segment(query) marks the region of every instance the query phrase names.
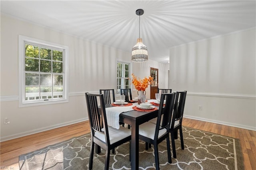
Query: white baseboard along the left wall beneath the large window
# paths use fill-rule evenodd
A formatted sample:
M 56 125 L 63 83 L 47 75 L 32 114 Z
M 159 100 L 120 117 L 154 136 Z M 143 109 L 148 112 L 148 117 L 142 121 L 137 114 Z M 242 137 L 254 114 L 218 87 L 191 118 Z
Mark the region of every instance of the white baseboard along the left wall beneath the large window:
M 68 121 L 68 122 L 60 123 L 60 124 L 53 125 L 53 126 L 48 126 L 48 127 L 43 127 L 43 128 L 40 128 L 40 129 L 35 129 L 33 131 L 26 131 L 26 132 L 23 132 L 23 133 L 17 133 L 17 134 L 14 134 L 14 135 L 2 137 L 0 139 L 0 142 L 9 141 L 11 139 L 16 139 L 16 138 L 19 138 L 19 137 L 24 137 L 24 136 L 32 135 L 32 134 L 43 132 L 43 131 L 48 131 L 48 130 L 55 129 L 55 128 L 58 128 L 58 127 L 72 125 L 74 123 L 79 123 L 79 122 L 86 121 L 86 120 L 88 120 L 88 118 L 87 119 L 86 118 L 84 118 L 84 119 L 77 119 L 77 120 L 74 120 L 74 121 Z

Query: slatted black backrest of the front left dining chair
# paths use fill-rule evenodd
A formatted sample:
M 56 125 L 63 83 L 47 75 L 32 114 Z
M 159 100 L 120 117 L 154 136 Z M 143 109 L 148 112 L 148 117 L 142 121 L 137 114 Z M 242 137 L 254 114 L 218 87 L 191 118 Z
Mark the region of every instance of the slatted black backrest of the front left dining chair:
M 105 103 L 104 103 L 104 95 L 103 94 L 89 94 L 85 93 L 86 96 L 86 103 L 87 103 L 87 110 L 88 110 L 88 117 L 90 121 L 91 127 L 91 134 L 94 137 L 95 132 L 105 134 L 106 143 L 110 143 L 109 141 L 109 134 L 108 134 L 108 123 L 106 119 L 106 110 L 105 110 Z M 99 109 L 97 99 L 100 99 L 100 107 Z M 104 127 L 104 131 L 102 131 L 100 115 L 102 117 L 102 123 Z

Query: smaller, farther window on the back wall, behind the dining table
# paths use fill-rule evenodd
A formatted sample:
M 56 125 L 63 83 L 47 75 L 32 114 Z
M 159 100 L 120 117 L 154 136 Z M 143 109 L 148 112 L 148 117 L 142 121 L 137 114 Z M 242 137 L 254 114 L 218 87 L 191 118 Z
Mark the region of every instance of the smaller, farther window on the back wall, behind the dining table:
M 116 64 L 116 92 L 120 94 L 121 88 L 130 88 L 130 63 L 118 61 Z

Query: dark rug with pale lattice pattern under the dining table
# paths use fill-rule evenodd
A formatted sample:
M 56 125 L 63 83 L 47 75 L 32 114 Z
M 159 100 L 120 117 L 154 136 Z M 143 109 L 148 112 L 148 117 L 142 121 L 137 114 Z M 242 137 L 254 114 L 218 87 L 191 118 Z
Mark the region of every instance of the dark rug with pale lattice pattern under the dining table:
M 168 163 L 166 141 L 158 145 L 161 170 L 243 170 L 243 155 L 238 139 L 183 127 L 184 147 L 180 147 L 180 137 L 175 140 L 177 158 Z M 74 137 L 19 156 L 20 170 L 87 170 L 89 165 L 91 135 Z M 171 147 L 172 148 L 172 147 Z M 139 169 L 155 169 L 154 147 L 145 150 L 140 141 Z M 104 169 L 105 150 L 95 154 L 93 169 Z M 129 143 L 117 147 L 110 154 L 110 169 L 131 169 Z

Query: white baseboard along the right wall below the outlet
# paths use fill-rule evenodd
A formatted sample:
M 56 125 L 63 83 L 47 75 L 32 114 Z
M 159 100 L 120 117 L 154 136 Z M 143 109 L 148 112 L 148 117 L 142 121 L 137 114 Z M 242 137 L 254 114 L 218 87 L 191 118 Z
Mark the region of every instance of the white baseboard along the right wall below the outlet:
M 242 128 L 242 129 L 256 131 L 256 127 L 252 127 L 252 126 L 245 126 L 245 125 L 240 125 L 240 124 L 235 124 L 235 123 L 230 123 L 230 122 L 225 122 L 225 121 L 212 120 L 212 119 L 205 119 L 202 117 L 195 117 L 195 116 L 190 116 L 190 115 L 183 115 L 183 117 L 188 118 L 188 119 L 195 119 L 195 120 L 199 120 L 199 121 L 206 121 L 206 122 L 210 122 L 210 123 L 216 123 L 216 124 L 220 124 L 220 125 L 227 125 L 227 126 L 238 127 L 238 128 Z

